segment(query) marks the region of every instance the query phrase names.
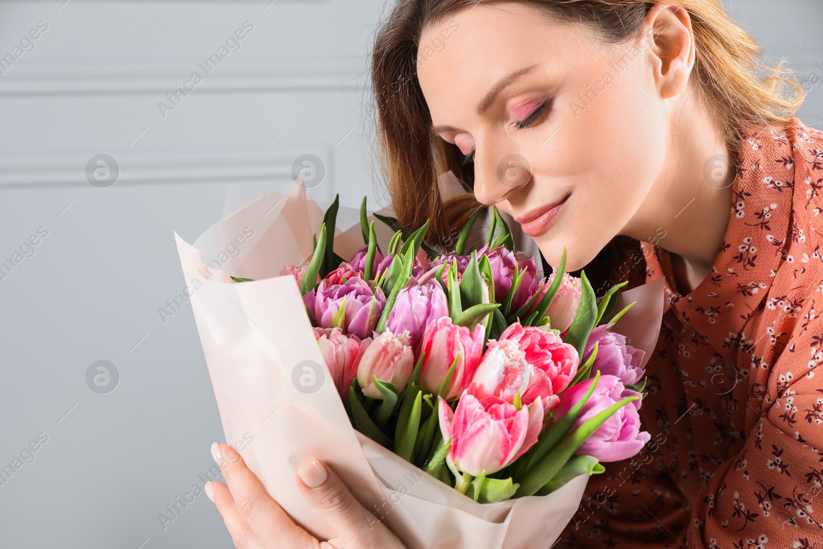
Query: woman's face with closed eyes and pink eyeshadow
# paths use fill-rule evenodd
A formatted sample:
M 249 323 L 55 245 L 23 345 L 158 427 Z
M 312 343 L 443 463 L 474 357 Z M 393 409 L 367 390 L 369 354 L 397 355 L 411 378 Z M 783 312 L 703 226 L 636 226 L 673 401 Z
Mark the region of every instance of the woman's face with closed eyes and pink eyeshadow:
M 651 44 L 604 44 L 518 2 L 478 5 L 421 35 L 435 135 L 473 155 L 477 200 L 514 216 L 552 265 L 564 244 L 574 271 L 645 228 L 637 214 L 671 131 Z

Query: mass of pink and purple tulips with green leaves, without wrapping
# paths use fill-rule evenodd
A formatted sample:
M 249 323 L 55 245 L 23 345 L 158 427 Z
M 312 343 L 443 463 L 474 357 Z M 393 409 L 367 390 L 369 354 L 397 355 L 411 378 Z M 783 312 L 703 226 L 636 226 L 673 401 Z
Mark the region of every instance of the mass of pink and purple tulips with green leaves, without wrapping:
M 585 273 L 564 272 L 565 250 L 538 279 L 495 207 L 485 246 L 465 249 L 478 211 L 445 254 L 425 246 L 428 221 L 408 233 L 378 216 L 398 229 L 384 255 L 364 199 L 365 244 L 342 261 L 327 230 L 338 198 L 314 253 L 281 274 L 357 430 L 481 503 L 548 494 L 649 441 L 644 351 L 610 331 L 632 306 L 609 319 L 625 282 L 597 301 Z

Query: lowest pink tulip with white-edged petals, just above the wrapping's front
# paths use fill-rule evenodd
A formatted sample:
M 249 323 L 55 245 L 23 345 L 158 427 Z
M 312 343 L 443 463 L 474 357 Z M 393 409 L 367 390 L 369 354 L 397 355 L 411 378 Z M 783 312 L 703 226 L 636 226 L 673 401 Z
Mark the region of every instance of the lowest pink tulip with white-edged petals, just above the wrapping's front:
M 491 475 L 514 462 L 537 442 L 543 426 L 543 404 L 538 397 L 529 407 L 517 409 L 502 398 L 477 398 L 471 384 L 457 409 L 439 401 L 440 430 L 451 440 L 449 468 L 477 477 Z

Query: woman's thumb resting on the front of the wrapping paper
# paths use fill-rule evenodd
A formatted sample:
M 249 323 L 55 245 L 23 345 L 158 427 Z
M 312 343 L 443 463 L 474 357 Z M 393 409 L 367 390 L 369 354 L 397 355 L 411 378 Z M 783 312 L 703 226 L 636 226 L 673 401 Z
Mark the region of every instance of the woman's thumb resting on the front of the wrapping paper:
M 360 505 L 331 468 L 317 458 L 306 459 L 297 469 L 297 486 L 344 544 L 355 540 L 353 547 L 378 547 L 371 542 L 383 535 L 383 524 Z

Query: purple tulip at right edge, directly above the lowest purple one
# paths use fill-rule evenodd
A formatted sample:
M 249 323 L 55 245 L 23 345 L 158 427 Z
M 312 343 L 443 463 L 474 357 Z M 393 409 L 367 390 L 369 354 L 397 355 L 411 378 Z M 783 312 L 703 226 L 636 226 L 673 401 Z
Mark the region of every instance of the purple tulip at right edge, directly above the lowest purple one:
M 639 382 L 646 370 L 640 368 L 645 351 L 625 344 L 625 337 L 619 333 L 608 332 L 612 324 L 602 324 L 592 330 L 584 349 L 585 364 L 592 356 L 594 344 L 597 343 L 597 356 L 592 363 L 592 375 L 599 371 L 601 375 L 615 375 L 624 385 Z

